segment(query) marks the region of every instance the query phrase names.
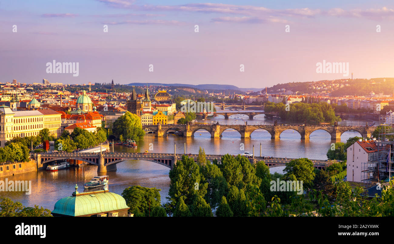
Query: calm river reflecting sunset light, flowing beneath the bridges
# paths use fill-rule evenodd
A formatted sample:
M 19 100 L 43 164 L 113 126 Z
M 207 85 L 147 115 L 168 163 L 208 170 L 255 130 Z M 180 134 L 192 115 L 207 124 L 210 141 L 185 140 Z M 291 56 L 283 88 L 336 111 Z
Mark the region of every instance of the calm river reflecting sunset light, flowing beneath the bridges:
M 243 119 L 240 119 L 242 117 Z M 247 115 L 232 115 L 229 119 L 223 116 L 207 119 L 201 122 L 220 124 L 244 124 L 248 125 L 273 124 L 273 119 L 265 119 L 264 115 L 256 115 L 253 120 L 249 120 Z M 365 125 L 366 120 L 354 119 L 344 120 L 339 125 Z M 282 123 L 280 120 L 278 123 Z M 207 154 L 226 154 L 236 155 L 244 151 L 252 151 L 255 145 L 255 155 L 260 155 L 260 143 L 262 156 L 326 159 L 326 153 L 329 149 L 331 136 L 324 130 L 316 130 L 310 134 L 309 140 L 302 140 L 298 132 L 285 130 L 281 134 L 280 140 L 271 140 L 271 135 L 265 130 L 255 130 L 249 139 L 241 139 L 240 134 L 235 130 L 226 130 L 221 138 L 210 138 L 207 131 L 195 132 L 194 138 L 183 138 L 180 136 L 168 135 L 163 138 L 156 138 L 153 134 L 146 134 L 144 140 L 138 142 L 138 149 L 115 145 L 117 152 L 143 152 L 153 146 L 156 153 L 173 153 L 174 143 L 177 145 L 177 153 L 183 153 L 184 142 L 186 141 L 186 153 L 198 153 L 199 147 L 202 147 Z M 341 142 L 346 142 L 350 137 L 360 136 L 358 132 L 344 132 L 341 136 Z M 150 145 L 150 143 L 152 143 Z M 244 149 L 240 150 L 240 144 L 244 144 Z M 161 189 L 161 201 L 165 203 L 168 196 L 170 179 L 168 177 L 169 168 L 153 162 L 141 160 L 128 160 L 117 164 L 117 171 L 108 171 L 109 190 L 121 194 L 129 186 L 141 185 L 145 187 L 156 187 Z M 78 191 L 83 191 L 84 181 L 89 181 L 97 175 L 97 166 L 85 165 L 80 168 L 68 168 L 57 172 L 35 171 L 14 176 L 2 177 L 0 180 L 14 181 L 31 181 L 32 192 L 26 195 L 25 192 L 1 192 L 1 196 L 9 197 L 13 201 L 19 201 L 24 206 L 34 207 L 39 205 L 44 208 L 53 210 L 56 201 L 62 197 L 71 196 L 74 192 L 75 184 L 78 184 Z

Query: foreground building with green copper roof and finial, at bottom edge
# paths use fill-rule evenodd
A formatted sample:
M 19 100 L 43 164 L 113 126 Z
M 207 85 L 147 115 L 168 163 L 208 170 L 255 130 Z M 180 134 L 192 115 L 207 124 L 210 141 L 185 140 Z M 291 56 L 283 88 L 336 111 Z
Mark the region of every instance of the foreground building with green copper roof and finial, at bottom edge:
M 75 192 L 55 203 L 51 214 L 55 217 L 127 217 L 126 200 L 119 194 L 108 190 Z

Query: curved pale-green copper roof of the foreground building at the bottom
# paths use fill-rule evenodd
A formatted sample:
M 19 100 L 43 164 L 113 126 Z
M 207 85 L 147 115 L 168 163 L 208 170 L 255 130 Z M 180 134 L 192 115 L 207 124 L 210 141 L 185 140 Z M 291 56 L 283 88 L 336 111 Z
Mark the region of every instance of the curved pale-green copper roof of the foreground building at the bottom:
M 93 215 L 101 212 L 111 212 L 128 209 L 125 199 L 113 192 L 103 192 L 64 197 L 55 203 L 54 214 L 68 216 Z

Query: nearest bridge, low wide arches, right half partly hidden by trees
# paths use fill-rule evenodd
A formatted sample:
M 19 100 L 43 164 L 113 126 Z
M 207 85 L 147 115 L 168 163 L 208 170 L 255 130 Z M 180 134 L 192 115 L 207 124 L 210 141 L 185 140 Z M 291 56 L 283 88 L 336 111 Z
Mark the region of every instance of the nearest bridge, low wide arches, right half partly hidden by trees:
M 98 166 L 97 172 L 106 172 L 116 170 L 116 164 L 126 160 L 150 161 L 172 169 L 177 164 L 177 160 L 182 158 L 182 155 L 184 154 L 175 153 L 174 145 L 174 153 L 41 153 L 35 154 L 34 158 L 38 167 L 43 167 L 45 166 L 44 164 L 49 164 L 50 162 L 54 162 L 56 160 L 74 159 Z M 198 154 L 189 155 L 189 157 L 193 158 L 194 161 L 197 161 L 198 156 Z M 211 162 L 212 160 L 216 159 L 218 162 L 220 162 L 221 156 L 222 155 L 206 155 L 206 159 L 210 160 Z M 250 158 L 251 163 L 255 164 L 258 161 L 264 161 L 270 168 L 285 166 L 286 163 L 290 162 L 290 160 L 292 160 L 292 158 Z M 312 162 L 314 167 L 318 169 L 323 169 L 328 166 L 328 163 L 325 160 L 312 160 Z

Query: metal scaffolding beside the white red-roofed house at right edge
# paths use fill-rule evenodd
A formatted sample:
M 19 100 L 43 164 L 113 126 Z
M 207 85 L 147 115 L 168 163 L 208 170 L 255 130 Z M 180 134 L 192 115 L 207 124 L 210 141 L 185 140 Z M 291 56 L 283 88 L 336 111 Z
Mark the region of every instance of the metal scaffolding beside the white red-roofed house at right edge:
M 368 154 L 368 162 L 361 164 L 361 182 L 364 187 L 370 187 L 376 182 L 385 182 L 393 176 L 394 168 L 394 129 L 391 120 L 386 121 L 386 116 L 379 118 L 380 127 L 376 138 L 377 151 Z M 391 165 L 390 165 L 391 164 Z

